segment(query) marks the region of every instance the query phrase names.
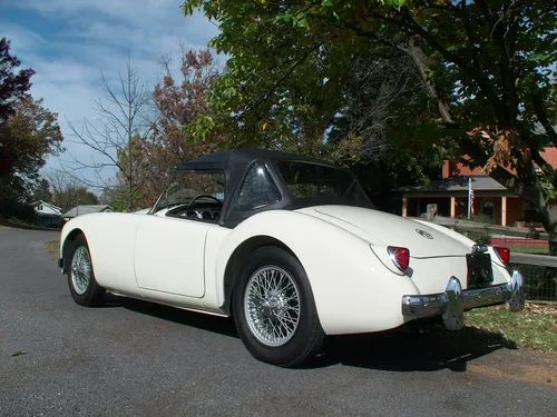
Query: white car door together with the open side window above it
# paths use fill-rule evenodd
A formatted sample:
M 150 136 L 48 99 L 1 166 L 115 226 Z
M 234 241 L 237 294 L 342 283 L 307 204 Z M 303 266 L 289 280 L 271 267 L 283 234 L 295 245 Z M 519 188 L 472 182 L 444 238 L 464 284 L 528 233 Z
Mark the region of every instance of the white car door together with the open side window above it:
M 205 241 L 219 228 L 222 171 L 179 172 L 145 215 L 135 242 L 135 274 L 141 289 L 187 297 L 205 295 Z

